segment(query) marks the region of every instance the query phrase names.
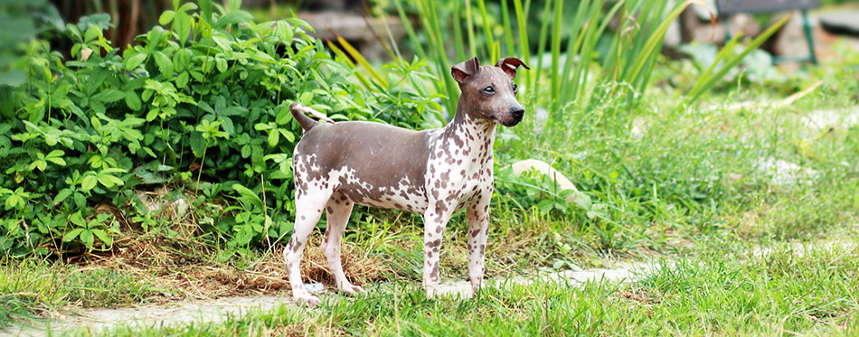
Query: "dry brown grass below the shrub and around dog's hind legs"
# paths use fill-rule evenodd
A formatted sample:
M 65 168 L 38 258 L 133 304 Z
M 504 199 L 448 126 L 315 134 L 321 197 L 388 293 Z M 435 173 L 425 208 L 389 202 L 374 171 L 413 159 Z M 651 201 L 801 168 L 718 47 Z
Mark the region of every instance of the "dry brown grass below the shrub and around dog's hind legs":
M 319 249 L 321 235 L 310 239 L 302 259 L 305 282 L 334 286 L 325 257 Z M 205 299 L 231 295 L 266 295 L 290 289 L 281 248 L 261 253 L 246 268 L 216 261 L 215 248 L 183 239 L 136 236 L 121 239 L 104 255 L 72 258 L 82 267 L 122 269 L 153 285 L 159 295 L 148 301 L 163 303 L 182 299 Z M 241 257 L 234 257 L 241 258 Z M 381 259 L 354 244 L 344 242 L 341 252 L 346 276 L 355 284 L 382 281 L 386 267 Z

